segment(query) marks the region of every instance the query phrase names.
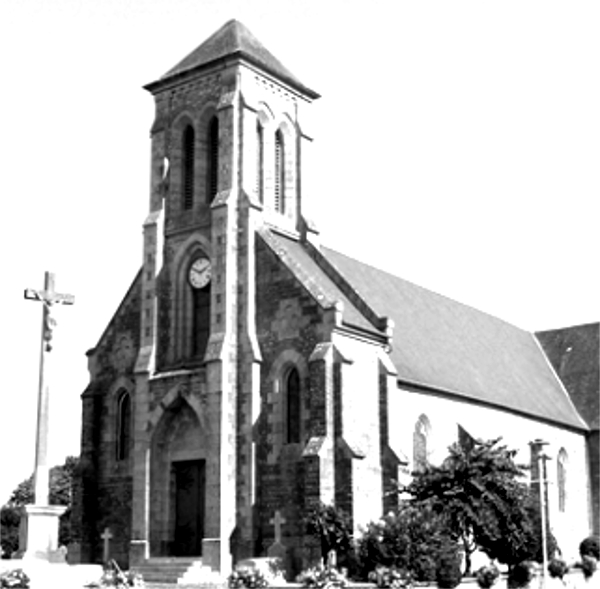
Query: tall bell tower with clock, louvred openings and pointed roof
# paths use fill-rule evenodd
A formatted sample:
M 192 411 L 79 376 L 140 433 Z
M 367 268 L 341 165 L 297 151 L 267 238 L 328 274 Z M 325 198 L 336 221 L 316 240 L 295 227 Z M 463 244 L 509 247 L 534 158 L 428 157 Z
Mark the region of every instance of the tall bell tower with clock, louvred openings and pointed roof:
M 252 556 L 255 540 L 252 429 L 261 362 L 255 234 L 261 226 L 301 230 L 301 153 L 308 137 L 299 117 L 318 94 L 235 20 L 145 88 L 156 110 L 136 431 L 148 429 L 157 381 L 169 375 L 195 383 L 190 394 L 201 399 L 206 427 L 202 560 L 224 574 L 230 543 L 237 557 Z M 140 436 L 138 464 L 148 464 L 149 448 Z M 137 560 L 149 555 L 150 475 L 143 468 L 134 477 L 132 557 L 143 542 L 146 552 Z

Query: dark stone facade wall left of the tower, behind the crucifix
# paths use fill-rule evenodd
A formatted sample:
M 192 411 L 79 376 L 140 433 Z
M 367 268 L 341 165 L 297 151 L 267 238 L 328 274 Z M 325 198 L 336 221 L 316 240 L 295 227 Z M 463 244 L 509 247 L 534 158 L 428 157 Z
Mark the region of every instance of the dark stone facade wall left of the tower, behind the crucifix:
M 127 566 L 131 521 L 131 448 L 118 460 L 118 400 L 127 392 L 135 411 L 133 364 L 139 350 L 139 276 L 98 345 L 88 352 L 90 384 L 83 392 L 81 457 L 73 499 L 73 540 L 81 561 L 102 561 L 100 535 L 111 530 L 111 557 Z M 131 438 L 130 438 L 131 442 Z

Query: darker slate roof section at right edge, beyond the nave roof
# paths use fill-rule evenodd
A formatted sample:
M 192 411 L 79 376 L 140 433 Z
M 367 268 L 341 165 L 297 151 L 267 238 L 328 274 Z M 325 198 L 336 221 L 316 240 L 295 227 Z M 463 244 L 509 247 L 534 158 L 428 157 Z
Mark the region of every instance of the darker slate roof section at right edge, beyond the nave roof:
M 536 333 L 579 414 L 600 429 L 600 323 Z

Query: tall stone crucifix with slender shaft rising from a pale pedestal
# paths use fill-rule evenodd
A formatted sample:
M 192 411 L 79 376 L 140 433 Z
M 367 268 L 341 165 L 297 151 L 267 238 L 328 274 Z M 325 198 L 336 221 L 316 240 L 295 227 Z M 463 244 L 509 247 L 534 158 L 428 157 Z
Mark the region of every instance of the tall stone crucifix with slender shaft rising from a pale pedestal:
M 37 430 L 35 442 L 34 503 L 48 505 L 50 492 L 50 474 L 47 462 L 48 450 L 48 386 L 46 383 L 45 367 L 47 356 L 52 350 L 52 335 L 56 321 L 51 315 L 52 305 L 72 305 L 75 297 L 59 294 L 54 291 L 54 274 L 44 275 L 44 290 L 25 290 L 25 298 L 43 303 L 42 315 L 42 348 L 40 351 L 40 377 L 38 391 Z

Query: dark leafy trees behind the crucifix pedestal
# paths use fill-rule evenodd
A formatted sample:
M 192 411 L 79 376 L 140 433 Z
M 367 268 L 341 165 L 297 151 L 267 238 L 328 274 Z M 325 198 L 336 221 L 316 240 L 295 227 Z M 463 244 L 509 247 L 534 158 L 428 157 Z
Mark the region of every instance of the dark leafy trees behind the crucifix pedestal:
M 67 510 L 60 518 L 58 541 L 68 544 L 70 533 L 71 494 L 73 475 L 79 464 L 79 458 L 68 456 L 65 463 L 50 469 L 50 503 L 52 505 L 66 505 Z M 21 521 L 21 507 L 33 503 L 34 489 L 33 476 L 25 479 L 12 492 L 8 502 L 0 511 L 1 546 L 5 556 L 10 556 L 19 548 L 19 525 Z

